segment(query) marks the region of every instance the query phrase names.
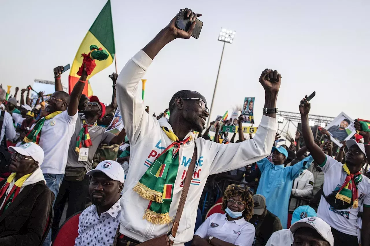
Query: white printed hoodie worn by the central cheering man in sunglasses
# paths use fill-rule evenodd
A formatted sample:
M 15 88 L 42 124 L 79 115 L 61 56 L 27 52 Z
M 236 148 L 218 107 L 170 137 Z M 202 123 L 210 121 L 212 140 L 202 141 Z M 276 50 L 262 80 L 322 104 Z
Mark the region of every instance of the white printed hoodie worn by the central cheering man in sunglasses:
M 142 219 L 149 201 L 132 190 L 148 169 L 148 164 L 172 143 L 161 129 L 161 126 L 165 126 L 172 130 L 168 120 L 166 118 L 157 120 L 149 116 L 138 94 L 139 89 L 141 92 L 140 79 L 145 75 L 151 62 L 152 59 L 140 50 L 127 62 L 116 83 L 118 107 L 131 146 L 130 166 L 120 202 L 122 207 L 120 233 L 140 242 L 168 233 L 172 227 L 172 224 L 156 225 Z M 207 177 L 244 167 L 268 156 L 275 140 L 276 129 L 276 119 L 263 116 L 255 137 L 242 143 L 225 145 L 203 138 L 195 140 L 198 160 L 176 234 L 175 245 L 182 245 L 193 238 L 196 211 Z M 191 132 L 186 137 L 190 134 Z M 194 140 L 180 147 L 180 164 L 169 209 L 169 215 L 172 218 L 176 215 L 183 181 L 193 152 Z

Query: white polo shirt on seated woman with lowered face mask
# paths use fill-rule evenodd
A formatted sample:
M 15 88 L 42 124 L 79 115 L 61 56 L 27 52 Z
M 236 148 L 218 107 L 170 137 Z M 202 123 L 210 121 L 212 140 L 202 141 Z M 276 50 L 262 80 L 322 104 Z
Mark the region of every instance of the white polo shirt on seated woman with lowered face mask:
M 228 221 L 226 213 L 213 213 L 199 226 L 194 235 L 201 238 L 214 236 L 237 246 L 252 246 L 255 233 L 254 226 L 244 218 Z

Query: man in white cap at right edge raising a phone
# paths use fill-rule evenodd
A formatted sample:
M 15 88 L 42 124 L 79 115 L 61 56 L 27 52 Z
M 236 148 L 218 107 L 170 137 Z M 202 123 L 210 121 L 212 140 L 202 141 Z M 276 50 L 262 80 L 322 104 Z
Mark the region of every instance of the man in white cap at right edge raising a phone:
M 369 132 L 361 131 L 360 123 L 355 122 L 355 128 L 364 136 L 365 144 L 357 143 L 354 139 L 347 140 L 348 151 L 343 165 L 324 154 L 314 143 L 308 122 L 310 107 L 310 103 L 304 98 L 299 110 L 306 147 L 324 172 L 323 195 L 317 208 L 317 216 L 332 227 L 334 246 L 358 246 L 357 215 L 363 206 L 362 245 L 370 246 L 370 180 L 361 174 L 361 168 L 367 162 L 367 153 L 370 153 Z

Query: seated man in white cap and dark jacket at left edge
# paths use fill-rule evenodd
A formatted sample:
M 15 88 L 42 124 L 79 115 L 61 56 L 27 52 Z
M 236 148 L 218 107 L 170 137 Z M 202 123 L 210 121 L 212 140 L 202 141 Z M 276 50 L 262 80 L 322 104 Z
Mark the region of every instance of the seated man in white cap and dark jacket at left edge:
M 9 147 L 9 151 L 13 173 L 0 182 L 0 245 L 38 246 L 54 200 L 40 169 L 44 151 L 34 143 Z

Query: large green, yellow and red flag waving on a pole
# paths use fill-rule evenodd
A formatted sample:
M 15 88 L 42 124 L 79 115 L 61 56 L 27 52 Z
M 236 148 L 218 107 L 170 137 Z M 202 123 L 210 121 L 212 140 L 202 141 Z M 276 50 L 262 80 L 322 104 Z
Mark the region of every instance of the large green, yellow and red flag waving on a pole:
M 78 48 L 77 54 L 73 60 L 71 66 L 71 72 L 69 75 L 69 93 L 72 92 L 74 85 L 80 79 L 80 76 L 77 75 L 78 69 L 82 65 L 83 57 L 81 54 L 88 54 L 90 52 L 90 45 L 96 45 L 99 48 L 105 49 L 109 57 L 103 61 L 96 61 L 96 67 L 94 71 L 87 77 L 90 79 L 92 76 L 107 68 L 113 63 L 115 46 L 114 46 L 114 33 L 113 33 L 113 22 L 112 22 L 112 12 L 111 12 L 111 1 L 108 0 L 104 8 L 100 11 L 100 14 L 90 27 L 90 30 L 87 32 L 84 40 L 82 41 L 80 48 Z M 89 98 L 92 96 L 92 89 L 90 82 L 85 84 L 85 88 L 82 92 L 84 95 Z

